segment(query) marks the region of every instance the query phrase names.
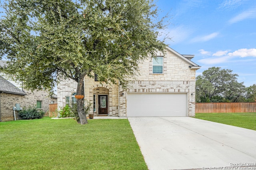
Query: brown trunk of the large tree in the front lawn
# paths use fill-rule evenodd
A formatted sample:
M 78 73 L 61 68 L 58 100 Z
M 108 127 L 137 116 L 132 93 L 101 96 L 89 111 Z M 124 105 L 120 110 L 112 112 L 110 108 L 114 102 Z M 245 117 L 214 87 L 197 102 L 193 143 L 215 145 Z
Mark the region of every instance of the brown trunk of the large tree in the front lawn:
M 76 94 L 84 95 L 84 76 L 79 76 L 79 78 L 78 78 Z M 86 114 L 84 111 L 84 98 L 76 99 L 76 103 L 77 103 L 77 111 L 78 111 L 81 125 L 88 123 Z M 79 121 L 78 121 L 78 123 L 79 123 Z

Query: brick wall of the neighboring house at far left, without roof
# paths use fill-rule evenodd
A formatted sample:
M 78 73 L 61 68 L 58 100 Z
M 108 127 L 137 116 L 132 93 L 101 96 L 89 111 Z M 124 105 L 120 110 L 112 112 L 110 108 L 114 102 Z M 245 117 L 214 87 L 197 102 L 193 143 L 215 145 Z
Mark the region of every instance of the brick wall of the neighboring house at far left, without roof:
M 48 116 L 49 104 L 51 101 L 57 102 L 56 98 L 51 98 L 46 91 L 34 91 L 24 90 L 27 95 L 17 95 L 0 93 L 0 120 L 10 121 L 14 120 L 13 106 L 20 104 L 20 107 L 36 106 L 37 101 L 42 102 L 42 110 L 46 112 L 45 116 Z M 16 119 L 18 119 L 18 111 L 16 112 Z

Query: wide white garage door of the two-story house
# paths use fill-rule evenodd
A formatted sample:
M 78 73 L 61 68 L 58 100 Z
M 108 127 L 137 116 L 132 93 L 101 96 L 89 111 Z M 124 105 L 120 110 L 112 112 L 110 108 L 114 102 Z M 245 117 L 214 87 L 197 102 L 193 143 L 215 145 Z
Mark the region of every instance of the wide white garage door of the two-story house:
M 187 116 L 187 94 L 128 93 L 127 117 Z

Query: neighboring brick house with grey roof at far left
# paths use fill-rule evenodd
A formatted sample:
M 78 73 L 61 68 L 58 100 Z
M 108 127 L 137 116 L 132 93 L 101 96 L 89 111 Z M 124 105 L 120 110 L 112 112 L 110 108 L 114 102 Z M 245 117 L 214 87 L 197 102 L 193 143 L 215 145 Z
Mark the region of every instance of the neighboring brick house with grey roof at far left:
M 0 61 L 0 66 L 6 61 Z M 14 82 L 0 73 L 0 120 L 14 120 L 13 107 L 20 104 L 20 107 L 36 106 L 38 110 L 48 112 L 49 104 L 57 103 L 57 96 L 49 96 L 44 90 L 26 90 L 21 82 Z M 18 111 L 16 111 L 18 119 Z M 48 115 L 48 113 L 46 113 Z

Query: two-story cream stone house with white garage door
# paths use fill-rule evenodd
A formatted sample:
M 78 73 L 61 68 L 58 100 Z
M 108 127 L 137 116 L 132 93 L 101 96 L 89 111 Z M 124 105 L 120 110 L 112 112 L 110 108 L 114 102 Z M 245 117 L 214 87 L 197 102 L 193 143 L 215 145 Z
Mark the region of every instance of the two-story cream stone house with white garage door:
M 196 70 L 190 61 L 194 55 L 181 55 L 166 47 L 166 54 L 156 53 L 146 59 L 128 89 L 100 84 L 96 78 L 84 78 L 86 102 L 94 116 L 120 117 L 195 116 Z M 57 86 L 58 109 L 76 103 L 77 83 L 63 80 Z M 85 102 L 85 103 L 86 103 Z

